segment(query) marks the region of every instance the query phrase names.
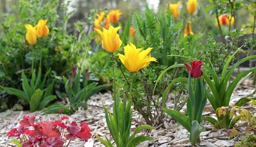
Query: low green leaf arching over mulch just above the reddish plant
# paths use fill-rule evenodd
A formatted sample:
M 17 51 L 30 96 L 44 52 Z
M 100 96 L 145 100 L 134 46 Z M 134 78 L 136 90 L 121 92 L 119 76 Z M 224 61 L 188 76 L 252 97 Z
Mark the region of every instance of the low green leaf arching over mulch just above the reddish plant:
M 63 109 L 63 114 L 65 115 L 72 115 L 73 111 L 71 111 L 68 107 L 65 107 L 60 104 L 53 104 L 50 105 L 49 107 L 45 108 L 44 110 L 41 111 L 41 115 L 47 115 L 47 114 L 53 114 L 53 113 L 59 113 L 59 111 Z

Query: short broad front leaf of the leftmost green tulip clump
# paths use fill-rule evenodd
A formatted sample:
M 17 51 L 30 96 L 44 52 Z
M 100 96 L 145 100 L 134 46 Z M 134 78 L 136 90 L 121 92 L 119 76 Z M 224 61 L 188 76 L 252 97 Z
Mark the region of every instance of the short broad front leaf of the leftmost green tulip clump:
M 29 101 L 29 107 L 31 112 L 38 110 L 42 95 L 43 92 L 41 91 L 41 89 L 36 89 L 34 94 L 31 96 L 31 100 Z

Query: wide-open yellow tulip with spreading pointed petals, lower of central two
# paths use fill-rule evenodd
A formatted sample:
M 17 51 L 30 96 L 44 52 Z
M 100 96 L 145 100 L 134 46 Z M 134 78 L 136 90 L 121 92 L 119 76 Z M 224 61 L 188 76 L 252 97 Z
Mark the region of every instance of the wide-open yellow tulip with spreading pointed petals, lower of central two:
M 125 55 L 118 54 L 123 65 L 130 72 L 137 72 L 140 69 L 149 66 L 150 61 L 157 62 L 157 59 L 150 56 L 150 51 L 152 48 L 147 48 L 143 50 L 141 48 L 136 48 L 133 43 L 126 45 L 124 48 Z

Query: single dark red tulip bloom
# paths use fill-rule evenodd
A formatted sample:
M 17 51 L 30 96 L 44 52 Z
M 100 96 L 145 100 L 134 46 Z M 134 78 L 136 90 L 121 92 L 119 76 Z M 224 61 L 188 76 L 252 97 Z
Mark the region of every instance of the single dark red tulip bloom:
M 203 71 L 201 69 L 202 61 L 192 61 L 190 62 L 190 65 L 192 66 L 192 68 L 190 66 L 188 66 L 187 63 L 185 63 L 185 66 L 187 67 L 188 72 L 190 72 L 190 75 L 192 78 L 199 78 L 201 77 L 201 75 L 203 75 Z

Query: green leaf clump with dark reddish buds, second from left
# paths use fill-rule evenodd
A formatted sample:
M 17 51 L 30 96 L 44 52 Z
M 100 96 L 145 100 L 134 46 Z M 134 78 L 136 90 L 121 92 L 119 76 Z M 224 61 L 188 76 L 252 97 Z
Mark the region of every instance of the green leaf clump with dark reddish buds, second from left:
M 98 85 L 96 82 L 91 82 L 88 69 L 80 71 L 77 67 L 72 67 L 72 71 L 72 75 L 69 75 L 69 79 L 63 77 L 70 107 L 53 104 L 43 110 L 42 114 L 58 113 L 60 109 L 64 110 L 63 113 L 70 114 L 74 113 L 78 107 L 82 107 L 86 110 L 88 108 L 87 100 L 90 99 L 93 94 L 109 87 L 107 84 Z

